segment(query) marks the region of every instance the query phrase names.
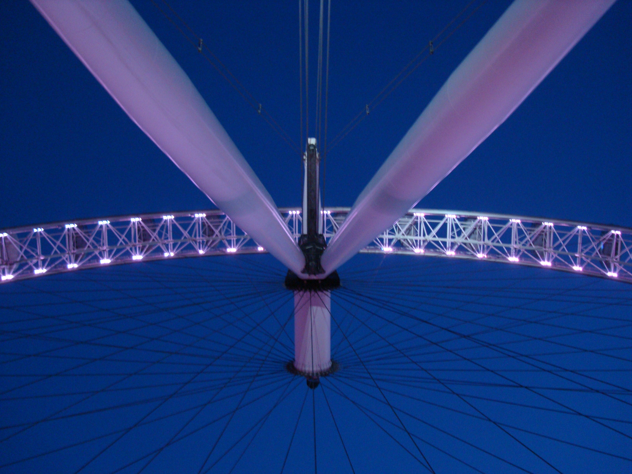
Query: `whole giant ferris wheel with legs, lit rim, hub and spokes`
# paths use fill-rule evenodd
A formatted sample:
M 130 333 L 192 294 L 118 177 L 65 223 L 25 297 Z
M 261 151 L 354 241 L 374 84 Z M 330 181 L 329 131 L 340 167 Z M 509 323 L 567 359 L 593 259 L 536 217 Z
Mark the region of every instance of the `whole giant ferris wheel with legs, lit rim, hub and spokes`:
M 632 229 L 415 209 L 614 0 L 516 0 L 353 207 L 306 135 L 281 209 L 129 3 L 32 3 L 220 210 L 0 233 L 0 471 L 629 469 Z

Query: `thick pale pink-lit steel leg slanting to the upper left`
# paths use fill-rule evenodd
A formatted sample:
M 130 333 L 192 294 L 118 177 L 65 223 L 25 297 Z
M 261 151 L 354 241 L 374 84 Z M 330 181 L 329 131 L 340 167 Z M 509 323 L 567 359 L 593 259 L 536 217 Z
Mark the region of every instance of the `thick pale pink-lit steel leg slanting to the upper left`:
M 130 118 L 221 210 L 289 269 L 305 258 L 186 73 L 126 0 L 32 0 Z

